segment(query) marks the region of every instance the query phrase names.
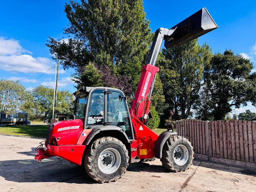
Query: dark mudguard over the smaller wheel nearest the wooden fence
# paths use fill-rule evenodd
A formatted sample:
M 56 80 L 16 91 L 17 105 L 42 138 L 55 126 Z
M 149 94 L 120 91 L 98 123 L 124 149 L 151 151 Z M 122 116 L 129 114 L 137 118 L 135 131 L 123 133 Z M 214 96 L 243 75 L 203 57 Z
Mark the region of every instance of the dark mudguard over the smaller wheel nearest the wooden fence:
M 165 131 L 158 136 L 154 145 L 154 155 L 156 158 L 160 159 L 162 157 L 164 143 L 172 135 L 177 135 L 177 132 Z

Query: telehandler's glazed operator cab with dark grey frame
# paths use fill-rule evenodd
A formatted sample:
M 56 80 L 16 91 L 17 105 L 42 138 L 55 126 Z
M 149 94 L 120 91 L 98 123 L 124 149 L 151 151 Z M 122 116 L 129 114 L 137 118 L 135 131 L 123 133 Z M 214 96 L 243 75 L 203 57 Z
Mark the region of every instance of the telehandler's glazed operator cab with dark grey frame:
M 119 89 L 84 87 L 73 93 L 76 97 L 75 117 L 83 119 L 84 129 L 94 126 L 120 127 L 129 140 L 133 130 L 126 97 Z

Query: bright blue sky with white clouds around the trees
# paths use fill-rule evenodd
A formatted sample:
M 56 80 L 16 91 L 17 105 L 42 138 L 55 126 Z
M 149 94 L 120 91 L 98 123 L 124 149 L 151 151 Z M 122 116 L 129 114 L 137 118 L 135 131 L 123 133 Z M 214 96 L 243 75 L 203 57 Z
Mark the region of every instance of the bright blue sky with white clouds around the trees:
M 2 1 L 0 7 L 0 78 L 20 80 L 27 89 L 43 84 L 54 86 L 56 63 L 51 59 L 45 43 L 48 36 L 65 38 L 63 28 L 68 20 L 64 5 L 68 1 Z M 206 42 L 213 52 L 232 49 L 243 54 L 253 63 L 256 60 L 256 1 L 153 1 L 144 0 L 146 17 L 152 31 L 170 28 L 189 15 L 206 7 L 219 28 L 200 37 L 199 43 Z M 35 80 L 45 71 L 47 73 Z M 73 69 L 60 71 L 59 89 L 75 91 L 70 80 Z M 234 113 L 256 108 L 250 104 Z

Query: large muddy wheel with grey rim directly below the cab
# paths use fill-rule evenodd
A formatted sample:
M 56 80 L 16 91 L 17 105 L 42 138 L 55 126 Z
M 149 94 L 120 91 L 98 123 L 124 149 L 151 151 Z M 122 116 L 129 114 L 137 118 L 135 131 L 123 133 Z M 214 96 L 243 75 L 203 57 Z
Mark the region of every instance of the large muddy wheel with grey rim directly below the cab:
M 103 137 L 88 147 L 84 167 L 87 174 L 99 183 L 121 178 L 129 165 L 128 150 L 114 137 Z

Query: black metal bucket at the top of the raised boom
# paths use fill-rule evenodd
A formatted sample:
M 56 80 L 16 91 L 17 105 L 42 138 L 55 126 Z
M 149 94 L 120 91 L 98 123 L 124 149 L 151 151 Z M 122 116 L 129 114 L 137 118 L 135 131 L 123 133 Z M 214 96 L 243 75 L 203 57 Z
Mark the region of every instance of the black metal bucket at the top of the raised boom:
M 176 28 L 176 29 L 175 29 Z M 173 26 L 175 29 L 171 36 L 164 39 L 165 48 L 175 47 L 218 28 L 211 15 L 204 7 L 179 24 Z

